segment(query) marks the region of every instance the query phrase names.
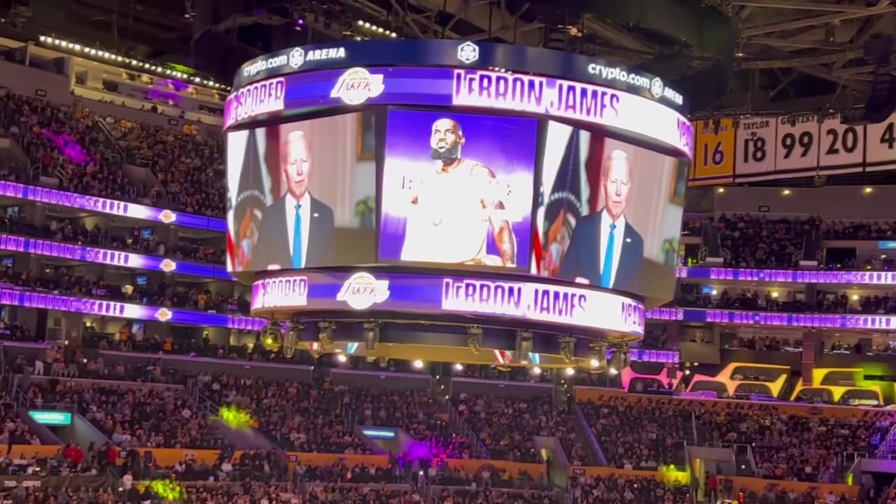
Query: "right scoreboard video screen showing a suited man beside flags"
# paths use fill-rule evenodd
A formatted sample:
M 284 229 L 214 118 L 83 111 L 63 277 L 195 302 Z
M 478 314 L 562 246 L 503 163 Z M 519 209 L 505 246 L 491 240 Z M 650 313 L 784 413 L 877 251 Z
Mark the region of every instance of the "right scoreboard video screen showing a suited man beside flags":
M 547 124 L 532 272 L 671 299 L 687 162 Z

